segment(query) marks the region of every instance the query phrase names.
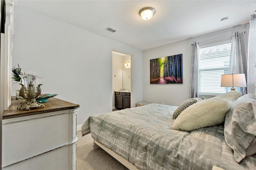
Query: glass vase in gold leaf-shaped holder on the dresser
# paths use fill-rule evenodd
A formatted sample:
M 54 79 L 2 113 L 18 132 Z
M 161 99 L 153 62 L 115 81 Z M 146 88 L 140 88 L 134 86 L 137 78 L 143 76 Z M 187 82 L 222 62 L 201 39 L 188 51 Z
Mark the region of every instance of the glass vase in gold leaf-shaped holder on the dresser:
M 21 103 L 22 105 L 17 107 L 17 109 L 26 109 L 29 111 L 34 108 L 43 108 L 44 105 L 38 103 L 36 98 L 41 94 L 40 80 L 41 76 L 37 75 L 20 75 L 22 83 L 20 83 L 20 96 L 25 98 L 26 101 Z

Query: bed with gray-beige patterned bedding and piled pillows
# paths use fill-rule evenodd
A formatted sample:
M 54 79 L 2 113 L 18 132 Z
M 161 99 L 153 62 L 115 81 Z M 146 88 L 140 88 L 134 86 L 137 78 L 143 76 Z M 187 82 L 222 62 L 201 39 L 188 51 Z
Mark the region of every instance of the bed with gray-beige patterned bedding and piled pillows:
M 254 95 L 240 97 L 237 94 L 228 92 L 202 101 L 197 98 L 194 103 L 188 102 L 192 104 L 187 103 L 185 108 L 184 105 L 178 107 L 151 103 L 93 115 L 82 125 L 82 136 L 90 133 L 94 143 L 129 169 L 211 170 L 214 166 L 226 170 L 256 169 L 256 98 Z M 212 104 L 215 102 L 218 107 Z M 193 109 L 204 108 L 205 105 L 211 111 L 201 109 L 204 111 L 191 113 Z M 174 113 L 179 110 L 180 113 L 173 119 Z M 241 110 L 246 113 L 243 114 L 246 117 L 244 120 L 241 116 L 237 118 Z M 215 118 L 209 114 L 221 118 L 212 124 Z M 204 125 L 207 118 L 210 118 L 210 122 Z M 184 120 L 185 123 L 182 122 Z M 191 126 L 195 122 L 198 126 L 200 121 L 203 122 L 202 127 L 200 125 L 191 130 Z M 180 122 L 188 126 L 177 128 Z M 241 123 L 249 124 L 244 125 L 249 128 L 243 128 Z

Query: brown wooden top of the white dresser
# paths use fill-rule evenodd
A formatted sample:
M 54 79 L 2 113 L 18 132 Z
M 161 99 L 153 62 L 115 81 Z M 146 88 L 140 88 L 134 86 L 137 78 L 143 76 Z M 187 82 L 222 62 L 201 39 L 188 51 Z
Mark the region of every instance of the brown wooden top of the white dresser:
M 44 108 L 31 109 L 30 111 L 17 109 L 17 107 L 21 105 L 20 103 L 24 101 L 25 100 L 16 100 L 15 96 L 12 97 L 12 104 L 9 106 L 7 111 L 4 111 L 3 119 L 10 119 L 15 117 L 23 117 L 28 115 L 36 115 L 68 109 L 76 109 L 80 107 L 80 105 L 52 97 L 48 99 L 45 103 L 42 103 L 44 105 Z

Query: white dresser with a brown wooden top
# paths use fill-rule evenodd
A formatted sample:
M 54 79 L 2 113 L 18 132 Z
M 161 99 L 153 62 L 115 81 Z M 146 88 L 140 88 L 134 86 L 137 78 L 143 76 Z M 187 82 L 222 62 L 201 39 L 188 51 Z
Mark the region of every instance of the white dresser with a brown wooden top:
M 42 109 L 17 110 L 12 99 L 2 120 L 3 170 L 76 170 L 79 105 L 50 98 Z

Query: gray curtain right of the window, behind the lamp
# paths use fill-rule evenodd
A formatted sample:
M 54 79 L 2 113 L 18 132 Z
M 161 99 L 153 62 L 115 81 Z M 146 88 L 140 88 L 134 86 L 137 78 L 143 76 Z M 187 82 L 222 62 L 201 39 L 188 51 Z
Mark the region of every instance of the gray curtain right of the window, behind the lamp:
M 247 82 L 247 63 L 243 53 L 244 46 L 241 45 L 239 32 L 232 35 L 229 73 L 244 73 Z M 236 91 L 241 91 L 242 95 L 247 93 L 247 87 L 236 87 Z

